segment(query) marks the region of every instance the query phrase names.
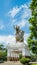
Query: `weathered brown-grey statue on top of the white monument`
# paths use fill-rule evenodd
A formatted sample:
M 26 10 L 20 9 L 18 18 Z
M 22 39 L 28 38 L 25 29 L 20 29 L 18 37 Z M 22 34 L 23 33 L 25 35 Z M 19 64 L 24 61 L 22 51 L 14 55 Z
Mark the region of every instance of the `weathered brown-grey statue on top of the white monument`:
M 20 30 L 19 26 L 14 27 L 16 30 L 16 42 L 23 42 L 24 41 L 24 31 Z

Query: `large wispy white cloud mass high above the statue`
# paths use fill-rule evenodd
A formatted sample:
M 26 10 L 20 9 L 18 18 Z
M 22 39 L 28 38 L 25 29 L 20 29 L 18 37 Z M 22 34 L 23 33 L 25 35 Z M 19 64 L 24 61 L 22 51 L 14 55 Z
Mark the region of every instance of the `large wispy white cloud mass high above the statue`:
M 20 7 L 13 7 L 13 9 L 8 12 L 8 16 L 11 27 L 13 27 L 13 25 L 19 25 L 23 28 L 28 24 L 27 18 L 31 16 L 31 11 L 26 4 L 23 4 Z

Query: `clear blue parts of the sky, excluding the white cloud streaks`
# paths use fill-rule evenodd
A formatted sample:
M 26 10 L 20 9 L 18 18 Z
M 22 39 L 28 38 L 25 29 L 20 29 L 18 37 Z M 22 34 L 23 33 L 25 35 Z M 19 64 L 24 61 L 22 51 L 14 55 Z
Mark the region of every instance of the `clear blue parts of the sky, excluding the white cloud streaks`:
M 0 0 L 0 35 L 13 35 L 13 25 L 15 23 L 19 24 L 19 22 L 23 21 L 22 19 L 28 21 L 29 15 L 25 18 L 21 18 L 21 16 L 28 10 L 26 7 L 23 8 L 22 5 L 29 7 L 30 1 L 31 0 Z M 18 13 L 12 18 L 11 16 L 14 15 L 12 14 L 13 8 L 16 10 L 20 7 L 22 7 L 20 11 L 18 11 Z M 8 12 L 12 15 L 9 15 Z M 24 16 L 26 16 L 26 14 L 24 14 Z M 11 22 L 13 20 L 15 20 L 15 23 Z M 27 24 L 28 23 L 26 23 L 26 26 L 23 26 L 21 29 L 26 33 L 29 33 Z

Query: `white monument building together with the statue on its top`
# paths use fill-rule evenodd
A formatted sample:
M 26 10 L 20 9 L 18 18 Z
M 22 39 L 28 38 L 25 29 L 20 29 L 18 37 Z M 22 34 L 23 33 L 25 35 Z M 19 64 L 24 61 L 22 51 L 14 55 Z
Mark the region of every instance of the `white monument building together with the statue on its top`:
M 20 30 L 19 26 L 14 26 L 16 31 L 15 36 L 12 37 L 12 42 L 7 44 L 7 60 L 18 61 L 19 55 L 22 57 L 30 57 L 30 50 L 24 41 L 24 31 Z

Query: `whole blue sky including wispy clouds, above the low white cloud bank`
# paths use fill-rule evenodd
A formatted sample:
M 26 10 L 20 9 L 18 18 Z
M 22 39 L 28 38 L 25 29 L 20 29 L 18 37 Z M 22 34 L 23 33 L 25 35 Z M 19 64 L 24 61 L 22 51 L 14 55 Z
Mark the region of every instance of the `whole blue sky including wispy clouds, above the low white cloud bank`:
M 30 2 L 31 0 L 0 0 L 0 36 L 14 35 L 14 25 L 19 25 L 25 34 L 29 34 Z

